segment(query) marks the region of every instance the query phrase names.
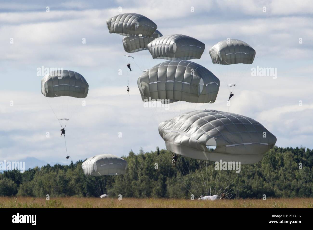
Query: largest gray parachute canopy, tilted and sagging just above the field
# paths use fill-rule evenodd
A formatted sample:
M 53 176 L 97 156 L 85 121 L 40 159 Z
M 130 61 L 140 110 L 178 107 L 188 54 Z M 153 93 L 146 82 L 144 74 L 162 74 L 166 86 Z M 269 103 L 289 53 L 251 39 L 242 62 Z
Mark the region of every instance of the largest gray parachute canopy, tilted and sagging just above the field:
M 252 118 L 217 110 L 192 111 L 159 125 L 169 151 L 208 161 L 253 164 L 275 146 L 276 137 Z M 210 151 L 211 146 L 216 146 Z

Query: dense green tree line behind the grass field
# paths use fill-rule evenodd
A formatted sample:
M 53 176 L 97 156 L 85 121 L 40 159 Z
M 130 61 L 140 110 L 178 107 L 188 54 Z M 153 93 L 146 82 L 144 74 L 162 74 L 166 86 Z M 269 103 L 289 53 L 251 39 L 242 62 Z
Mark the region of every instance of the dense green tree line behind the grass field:
M 313 197 L 313 151 L 303 147 L 275 146 L 255 164 L 236 171 L 214 169 L 214 162 L 178 157 L 172 166 L 167 150 L 123 156 L 125 175 L 85 176 L 81 164 L 47 164 L 41 168 L 0 173 L 0 196 L 31 197 L 117 197 L 198 198 L 220 195 L 228 198 Z

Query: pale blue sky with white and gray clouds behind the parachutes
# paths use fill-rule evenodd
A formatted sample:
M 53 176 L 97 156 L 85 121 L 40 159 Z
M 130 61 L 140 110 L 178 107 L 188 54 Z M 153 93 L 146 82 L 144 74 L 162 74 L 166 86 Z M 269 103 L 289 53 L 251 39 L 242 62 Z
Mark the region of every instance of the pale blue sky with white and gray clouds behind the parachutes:
M 43 66 L 76 71 L 89 84 L 86 106 L 78 102 L 66 127 L 70 160 L 165 148 L 158 124 L 182 110 L 143 106 L 137 79 L 143 69 L 165 60 L 153 60 L 148 50 L 132 53 L 129 74 L 123 36 L 106 26 L 120 13 L 150 18 L 163 35 L 185 34 L 205 43 L 201 59 L 192 61 L 213 72 L 221 85 L 213 104 L 189 110 L 229 109 L 259 121 L 277 137 L 277 146 L 312 149 L 312 12 L 313 3 L 305 0 L 0 0 L 0 161 L 35 157 L 69 163 L 59 122 L 41 94 L 37 69 Z M 209 49 L 227 38 L 253 47 L 254 63 L 227 70 L 212 64 Z M 252 76 L 257 67 L 274 68 L 276 75 Z M 229 83 L 237 86 L 227 107 Z

